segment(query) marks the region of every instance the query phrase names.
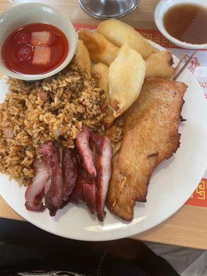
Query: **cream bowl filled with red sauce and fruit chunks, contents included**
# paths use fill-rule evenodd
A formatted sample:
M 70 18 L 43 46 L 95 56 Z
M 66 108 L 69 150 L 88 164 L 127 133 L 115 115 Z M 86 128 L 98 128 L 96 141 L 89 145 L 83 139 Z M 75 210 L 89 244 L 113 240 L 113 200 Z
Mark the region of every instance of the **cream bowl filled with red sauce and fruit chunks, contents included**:
M 72 60 L 77 32 L 66 15 L 41 3 L 0 14 L 0 70 L 25 81 L 57 74 Z

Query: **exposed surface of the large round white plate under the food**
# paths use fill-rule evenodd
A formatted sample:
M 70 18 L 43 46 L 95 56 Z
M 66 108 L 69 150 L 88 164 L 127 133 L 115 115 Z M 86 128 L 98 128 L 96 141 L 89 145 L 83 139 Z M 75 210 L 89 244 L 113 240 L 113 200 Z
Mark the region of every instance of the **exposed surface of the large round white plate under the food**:
M 161 46 L 153 43 L 160 50 Z M 174 57 L 175 63 L 177 58 Z M 26 210 L 25 188 L 19 188 L 16 181 L 8 181 L 0 175 L 0 193 L 19 215 L 35 226 L 50 233 L 87 241 L 120 239 L 148 230 L 175 213 L 193 193 L 207 166 L 207 105 L 204 94 L 189 70 L 181 75 L 180 81 L 188 85 L 181 115 L 187 119 L 181 123 L 181 146 L 176 154 L 162 162 L 153 173 L 148 188 L 148 202 L 137 203 L 135 219 L 126 223 L 107 210 L 103 224 L 91 216 L 85 206 L 69 204 L 50 217 L 48 210 L 33 213 Z M 7 92 L 5 80 L 0 82 L 1 97 Z

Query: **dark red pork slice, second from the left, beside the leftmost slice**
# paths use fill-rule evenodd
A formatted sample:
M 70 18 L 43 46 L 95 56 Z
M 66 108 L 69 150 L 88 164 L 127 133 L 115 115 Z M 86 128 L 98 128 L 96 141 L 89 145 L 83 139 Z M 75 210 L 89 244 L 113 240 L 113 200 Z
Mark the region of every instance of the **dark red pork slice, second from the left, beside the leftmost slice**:
M 52 170 L 50 186 L 47 188 L 45 204 L 50 210 L 50 216 L 55 216 L 57 210 L 63 204 L 63 175 L 59 165 L 60 156 L 58 148 L 51 141 L 46 141 L 39 149 L 39 155 L 43 156 L 48 168 Z

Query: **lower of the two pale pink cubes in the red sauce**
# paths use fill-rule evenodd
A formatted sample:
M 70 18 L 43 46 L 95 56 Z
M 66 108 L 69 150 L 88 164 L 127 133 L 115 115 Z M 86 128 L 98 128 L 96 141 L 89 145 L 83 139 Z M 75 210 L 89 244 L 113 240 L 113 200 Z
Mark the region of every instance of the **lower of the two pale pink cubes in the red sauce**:
M 47 46 L 35 46 L 32 64 L 46 65 L 50 63 L 51 49 Z

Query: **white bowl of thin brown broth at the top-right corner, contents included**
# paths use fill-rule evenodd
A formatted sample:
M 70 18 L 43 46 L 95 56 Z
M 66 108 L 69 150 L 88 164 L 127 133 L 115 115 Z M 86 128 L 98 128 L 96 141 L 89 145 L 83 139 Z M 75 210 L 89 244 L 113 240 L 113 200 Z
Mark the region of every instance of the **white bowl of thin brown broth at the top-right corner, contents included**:
M 161 0 L 155 8 L 157 28 L 186 49 L 207 49 L 207 1 Z

